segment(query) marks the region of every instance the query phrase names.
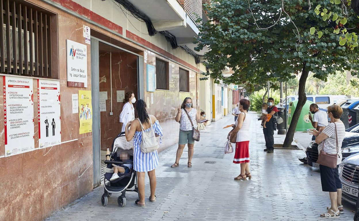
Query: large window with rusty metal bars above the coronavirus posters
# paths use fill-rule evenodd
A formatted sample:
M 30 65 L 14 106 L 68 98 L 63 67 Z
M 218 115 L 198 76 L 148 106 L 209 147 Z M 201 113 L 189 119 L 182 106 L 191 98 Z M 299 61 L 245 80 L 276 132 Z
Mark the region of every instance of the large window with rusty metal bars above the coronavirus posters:
M 51 68 L 57 59 L 51 50 L 51 43 L 57 45 L 52 42 L 57 30 L 51 30 L 56 15 L 25 1 L 0 0 L 0 7 L 0 72 L 56 78 Z

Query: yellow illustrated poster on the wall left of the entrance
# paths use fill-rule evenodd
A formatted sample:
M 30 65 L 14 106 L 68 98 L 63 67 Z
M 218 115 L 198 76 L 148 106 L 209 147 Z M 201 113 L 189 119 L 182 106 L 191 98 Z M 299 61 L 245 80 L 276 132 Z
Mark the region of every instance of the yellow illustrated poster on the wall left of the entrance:
M 91 91 L 79 91 L 80 134 L 92 132 Z

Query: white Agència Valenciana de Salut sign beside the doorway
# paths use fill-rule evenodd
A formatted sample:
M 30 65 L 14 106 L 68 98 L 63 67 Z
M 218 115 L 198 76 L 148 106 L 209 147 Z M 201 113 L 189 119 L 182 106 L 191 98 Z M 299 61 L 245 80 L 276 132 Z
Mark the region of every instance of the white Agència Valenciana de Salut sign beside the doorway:
M 67 87 L 87 87 L 87 46 L 66 40 Z

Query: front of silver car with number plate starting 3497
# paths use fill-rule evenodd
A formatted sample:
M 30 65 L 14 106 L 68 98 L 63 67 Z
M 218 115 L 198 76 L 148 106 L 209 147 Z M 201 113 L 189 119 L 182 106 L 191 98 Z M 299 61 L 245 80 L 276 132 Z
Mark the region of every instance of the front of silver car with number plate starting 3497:
M 342 198 L 355 205 L 359 186 L 359 153 L 353 154 L 339 166 L 339 178 L 342 184 Z

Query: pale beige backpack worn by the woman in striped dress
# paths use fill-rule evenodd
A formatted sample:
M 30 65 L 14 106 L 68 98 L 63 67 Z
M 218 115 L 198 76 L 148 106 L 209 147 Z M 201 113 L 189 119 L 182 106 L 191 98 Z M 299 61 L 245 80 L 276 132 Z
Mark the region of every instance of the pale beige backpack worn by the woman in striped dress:
M 138 118 L 136 118 L 136 119 L 138 121 L 140 121 L 140 119 L 138 119 Z M 141 129 L 142 129 L 142 141 L 140 144 L 141 152 L 150 153 L 150 152 L 157 150 L 159 148 L 159 145 L 158 145 L 158 140 L 155 135 L 155 131 L 153 129 L 151 116 L 150 116 L 150 131 L 145 131 L 141 121 L 140 121 L 140 124 L 141 124 Z M 138 137 L 137 137 L 137 139 L 138 139 Z

